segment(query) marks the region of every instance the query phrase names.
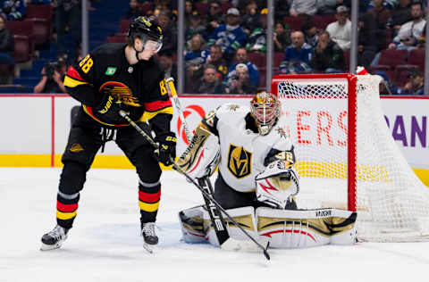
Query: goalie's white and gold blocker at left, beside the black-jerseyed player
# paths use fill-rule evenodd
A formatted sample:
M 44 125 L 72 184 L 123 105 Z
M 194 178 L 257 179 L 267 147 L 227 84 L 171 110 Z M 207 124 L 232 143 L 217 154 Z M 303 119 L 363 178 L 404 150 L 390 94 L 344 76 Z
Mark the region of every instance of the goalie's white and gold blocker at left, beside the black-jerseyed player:
M 219 138 L 198 126 L 188 148 L 179 157 L 177 164 L 191 178 L 211 176 L 220 161 Z

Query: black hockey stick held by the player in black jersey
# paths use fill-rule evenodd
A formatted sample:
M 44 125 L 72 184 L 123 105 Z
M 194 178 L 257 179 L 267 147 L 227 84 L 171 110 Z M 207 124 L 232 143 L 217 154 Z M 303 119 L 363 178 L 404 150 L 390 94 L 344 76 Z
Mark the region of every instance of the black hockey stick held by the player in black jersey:
M 149 143 L 150 143 L 150 145 L 152 145 L 152 146 L 154 146 L 154 148 L 158 149 L 158 145 L 155 143 L 154 139 L 152 139 L 152 137 L 150 137 L 149 135 L 147 135 L 147 133 L 146 133 L 145 131 L 143 131 L 143 129 L 140 129 L 140 127 L 139 127 L 139 126 L 138 126 L 138 125 L 137 125 L 133 120 L 131 120 L 131 119 L 130 119 L 130 117 L 128 116 L 127 112 L 125 112 L 125 111 L 121 110 L 121 111 L 119 111 L 119 114 L 122 116 L 122 118 L 124 118 L 125 120 L 127 120 L 127 121 L 130 123 L 130 125 L 131 125 L 134 129 L 136 129 L 136 130 L 139 132 L 139 134 L 140 134 L 141 136 L 145 137 L 145 139 L 147 140 L 147 142 L 149 142 Z M 240 230 L 241 230 L 241 231 L 242 231 L 246 236 L 248 236 L 248 238 L 249 238 L 251 241 L 253 241 L 253 242 L 257 245 L 257 247 L 258 247 L 258 248 L 260 248 L 260 249 L 264 252 L 265 258 L 266 258 L 267 260 L 270 260 L 270 255 L 268 254 L 268 252 L 266 251 L 266 248 L 265 248 L 263 245 L 261 245 L 259 242 L 257 242 L 257 240 L 256 240 L 254 237 L 250 236 L 250 235 L 248 234 L 248 232 L 247 232 L 245 229 L 243 229 L 243 228 L 240 226 L 240 224 L 239 224 L 236 220 L 234 220 L 234 219 L 231 217 L 231 215 L 230 215 L 227 211 L 225 211 L 225 210 L 223 209 L 223 207 L 222 207 L 219 203 L 217 203 L 217 202 L 214 200 L 214 198 L 213 198 L 210 194 L 208 194 L 208 193 L 206 192 L 206 190 L 205 190 L 203 187 L 201 187 L 201 186 L 197 183 L 197 181 L 195 181 L 193 178 L 189 177 L 188 173 L 186 173 L 185 171 L 183 171 L 183 170 L 181 169 L 181 167 L 180 167 L 179 165 L 177 165 L 177 163 L 176 163 L 176 162 L 174 162 L 174 160 L 172 160 L 172 159 L 171 159 L 171 162 L 172 162 L 172 165 L 173 165 L 173 167 L 174 167 L 174 169 L 175 169 L 175 170 L 179 171 L 183 176 L 185 176 L 185 178 L 187 178 L 187 179 L 189 180 L 189 182 L 191 182 L 192 184 L 194 184 L 194 186 L 195 186 L 195 187 L 197 187 L 199 191 L 201 191 L 201 193 L 204 195 L 204 197 L 205 197 L 208 201 L 210 201 L 211 203 L 213 203 L 213 204 L 214 204 L 214 206 L 215 206 L 217 209 L 219 209 L 220 211 L 222 211 L 222 212 L 223 212 L 223 214 L 224 214 L 224 215 L 226 215 L 226 216 L 228 217 L 228 219 L 230 219 L 230 220 L 231 220 L 231 222 L 232 222 L 235 226 L 237 226 L 237 228 L 240 228 Z M 215 225 L 217 225 L 217 224 L 215 224 Z M 225 230 L 226 230 L 226 229 L 225 229 Z M 229 236 L 229 235 L 228 235 L 228 236 Z

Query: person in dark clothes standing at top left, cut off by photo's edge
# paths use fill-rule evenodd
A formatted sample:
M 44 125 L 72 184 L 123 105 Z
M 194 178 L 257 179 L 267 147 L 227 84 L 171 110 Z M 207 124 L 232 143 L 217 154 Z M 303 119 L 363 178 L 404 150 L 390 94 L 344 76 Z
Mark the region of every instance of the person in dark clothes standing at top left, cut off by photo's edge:
M 78 56 L 77 50 L 80 46 L 80 22 L 82 13 L 80 0 L 55 1 L 55 28 L 56 41 L 58 43 L 58 56 L 68 53 L 65 49 L 65 29 L 72 37 L 73 46 L 70 46 L 69 58 L 73 60 Z

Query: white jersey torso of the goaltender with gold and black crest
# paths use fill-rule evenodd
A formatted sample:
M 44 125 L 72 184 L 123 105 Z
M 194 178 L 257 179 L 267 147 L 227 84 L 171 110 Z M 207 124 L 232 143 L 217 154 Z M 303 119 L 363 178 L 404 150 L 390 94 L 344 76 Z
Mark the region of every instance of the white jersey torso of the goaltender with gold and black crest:
M 219 170 L 225 182 L 239 192 L 255 191 L 255 177 L 265 169 L 264 161 L 281 135 L 277 127 L 266 136 L 246 129 L 246 106 L 223 105 L 217 112 L 221 146 Z

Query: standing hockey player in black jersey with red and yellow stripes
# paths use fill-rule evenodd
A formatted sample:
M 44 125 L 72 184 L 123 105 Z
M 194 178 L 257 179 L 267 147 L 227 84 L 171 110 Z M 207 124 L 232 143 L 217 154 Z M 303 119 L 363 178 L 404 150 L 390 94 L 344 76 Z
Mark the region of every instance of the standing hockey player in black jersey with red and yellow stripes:
M 139 175 L 141 234 L 156 245 L 156 212 L 161 195 L 161 169 L 175 157 L 176 137 L 170 130 L 172 103 L 164 71 L 153 58 L 162 46 L 163 30 L 146 17 L 130 23 L 126 45 L 105 44 L 69 68 L 64 79 L 68 93 L 80 101 L 63 153 L 55 228 L 42 236 L 42 250 L 60 247 L 76 217 L 80 190 L 97 151 L 114 140 Z M 118 114 L 129 112 L 148 134 L 154 131 L 159 152 Z M 145 122 L 148 120 L 148 123 Z M 102 195 L 101 197 L 102 198 Z

